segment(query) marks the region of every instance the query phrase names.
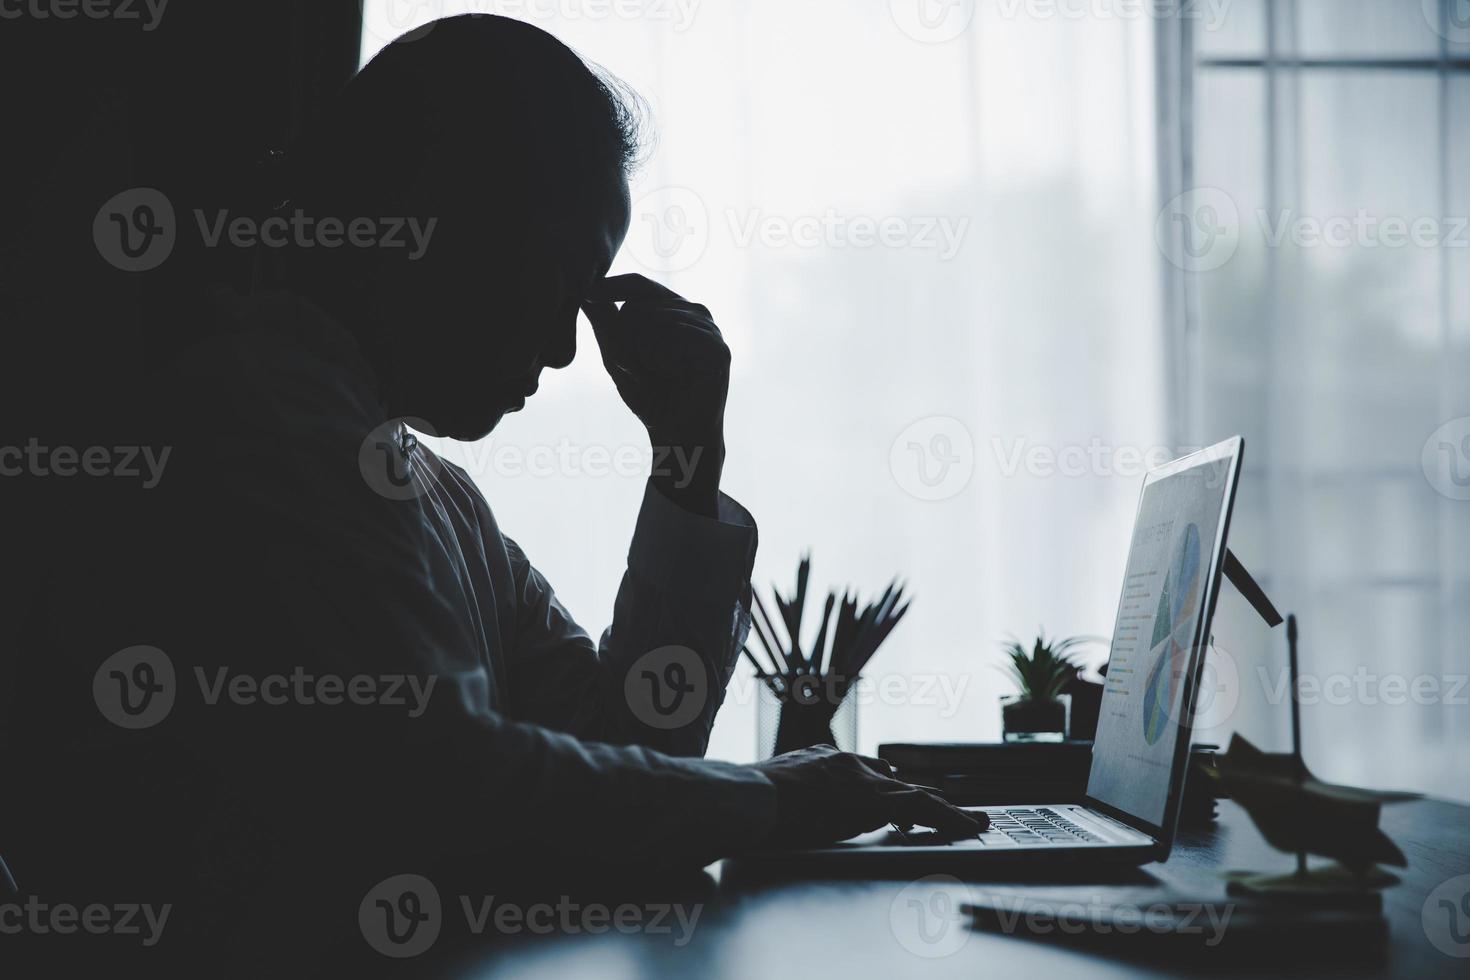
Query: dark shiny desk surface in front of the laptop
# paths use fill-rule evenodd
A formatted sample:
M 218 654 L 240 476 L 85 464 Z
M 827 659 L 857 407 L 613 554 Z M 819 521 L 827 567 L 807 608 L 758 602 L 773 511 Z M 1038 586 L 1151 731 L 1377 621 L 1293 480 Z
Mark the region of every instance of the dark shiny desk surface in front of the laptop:
M 1436 949 L 1426 933 L 1426 899 L 1438 886 L 1457 876 L 1470 876 L 1470 808 L 1439 801 L 1402 804 L 1385 810 L 1385 830 L 1404 849 L 1410 867 L 1396 870 L 1402 879 L 1385 893 L 1389 943 L 1377 956 L 1338 958 L 1317 967 L 1272 971 L 1273 976 L 1467 976 L 1470 959 L 1454 958 Z M 1033 886 L 994 884 L 979 880 L 958 883 L 945 879 L 925 880 L 779 880 L 759 886 L 739 884 L 738 868 L 723 870 L 689 939 L 678 945 L 681 929 L 672 934 L 556 936 L 516 940 L 495 951 L 476 955 L 463 970 L 465 977 L 1136 977 L 1136 976 L 1260 976 L 1258 968 L 1220 965 L 1192 959 L 1188 965 L 1138 961 L 1113 952 L 1082 951 L 1033 939 L 982 933 L 969 929 L 953 908 L 966 889 L 983 895 L 1004 895 L 1029 887 L 1032 893 L 1070 893 L 1107 899 L 1126 887 L 1138 895 L 1139 880 L 1173 886 L 1189 893 L 1220 889 L 1220 870 L 1282 870 L 1292 861 L 1272 851 L 1245 813 L 1223 802 L 1220 821 L 1208 830 L 1180 837 L 1167 864 L 1145 865 L 1142 876 L 1127 884 L 1100 884 L 1086 880 Z M 1458 946 L 1470 956 L 1470 877 L 1457 883 L 1455 902 L 1464 902 L 1458 920 L 1448 909 L 1439 911 L 1430 927 L 1441 943 L 1452 936 L 1466 937 Z M 1220 892 L 1223 895 L 1223 890 Z M 917 902 L 917 904 L 916 904 Z M 919 915 L 929 908 L 926 929 L 920 933 Z M 1458 932 L 1452 932 L 1458 930 Z M 1204 968 L 1201 968 L 1201 964 Z M 1079 973 L 1079 971 L 1083 971 Z

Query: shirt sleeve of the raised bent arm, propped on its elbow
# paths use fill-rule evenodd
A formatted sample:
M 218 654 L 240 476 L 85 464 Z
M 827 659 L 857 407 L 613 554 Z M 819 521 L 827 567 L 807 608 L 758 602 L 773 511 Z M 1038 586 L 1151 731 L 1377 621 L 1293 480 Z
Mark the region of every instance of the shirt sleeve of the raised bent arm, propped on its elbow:
M 579 738 L 703 755 L 750 630 L 756 545 L 756 522 L 729 497 L 710 519 L 650 483 L 613 623 L 594 646 L 507 541 L 517 589 L 512 714 Z

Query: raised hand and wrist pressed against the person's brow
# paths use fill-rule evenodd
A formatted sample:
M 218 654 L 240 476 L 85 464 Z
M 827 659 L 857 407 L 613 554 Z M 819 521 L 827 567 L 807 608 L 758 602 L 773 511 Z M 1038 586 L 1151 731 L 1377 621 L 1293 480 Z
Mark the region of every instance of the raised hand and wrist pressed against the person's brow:
M 681 507 L 714 517 L 731 351 L 710 311 L 638 275 L 603 279 L 582 310 L 617 394 L 648 429 L 654 486 Z

